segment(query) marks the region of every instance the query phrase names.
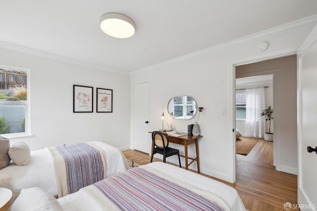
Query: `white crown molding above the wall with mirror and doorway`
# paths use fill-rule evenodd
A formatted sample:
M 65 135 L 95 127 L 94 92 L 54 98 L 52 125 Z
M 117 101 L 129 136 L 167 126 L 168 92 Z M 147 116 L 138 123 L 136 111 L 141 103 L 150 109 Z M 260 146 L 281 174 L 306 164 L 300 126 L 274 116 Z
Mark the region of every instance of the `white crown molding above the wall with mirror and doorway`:
M 317 24 L 317 15 L 312 15 L 303 19 L 299 19 L 290 23 L 286 23 L 271 29 L 267 29 L 252 35 L 248 35 L 236 40 L 232 40 L 217 46 L 213 46 L 211 48 L 207 48 L 198 52 L 194 52 L 194 53 L 189 53 L 186 55 L 182 55 L 167 61 L 163 61 L 148 67 L 144 67 L 142 69 L 136 70 L 131 72 L 130 74 L 133 73 L 139 73 L 139 72 L 143 72 L 146 70 L 149 70 L 151 68 L 155 68 L 155 67 L 159 67 L 159 66 L 163 66 L 166 64 L 170 64 L 170 63 L 175 63 L 175 62 L 179 62 L 179 61 L 183 61 L 183 60 L 187 60 L 187 59 L 191 59 L 191 58 L 195 58 L 195 57 L 199 57 L 199 56 L 203 56 L 206 54 L 210 54 L 210 53 L 215 53 L 218 51 L 223 51 L 225 49 L 228 48 L 233 48 L 245 43 L 250 43 L 250 42 L 255 42 L 255 41 L 259 41 L 259 40 L 263 40 L 263 39 L 267 39 L 269 37 L 273 37 L 273 36 L 277 36 L 280 34 L 284 34 L 284 33 L 288 33 L 291 31 L 295 31 L 301 28 L 306 28 L 306 27 L 310 27 L 310 26 L 315 26 Z

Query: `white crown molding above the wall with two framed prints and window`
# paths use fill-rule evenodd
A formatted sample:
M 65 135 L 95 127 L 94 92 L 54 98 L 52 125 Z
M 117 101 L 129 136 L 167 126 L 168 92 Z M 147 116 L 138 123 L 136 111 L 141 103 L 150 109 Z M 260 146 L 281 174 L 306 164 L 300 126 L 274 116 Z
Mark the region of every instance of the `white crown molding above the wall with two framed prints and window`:
M 56 55 L 53 53 L 42 52 L 42 51 L 38 51 L 35 49 L 30 49 L 30 48 L 26 48 L 26 47 L 22 47 L 22 46 L 18 46 L 18 45 L 13 45 L 13 44 L 1 42 L 1 41 L 0 41 L 0 48 L 11 50 L 11 51 L 16 51 L 16 52 L 20 52 L 20 53 L 28 53 L 28 54 L 32 54 L 32 55 L 36 55 L 36 56 L 40 56 L 40 57 L 44 57 L 44 58 L 49 58 L 49 59 L 53 59 L 53 60 L 57 60 L 57 61 L 65 62 L 65 63 L 70 63 L 70 64 L 82 66 L 82 67 L 87 67 L 90 69 L 102 70 L 102 71 L 107 71 L 107 72 L 112 72 L 112 73 L 122 74 L 122 75 L 129 75 L 129 73 L 124 72 L 124 71 L 114 70 L 114 69 L 104 67 L 101 65 L 68 58 L 66 56 L 60 56 L 60 55 Z

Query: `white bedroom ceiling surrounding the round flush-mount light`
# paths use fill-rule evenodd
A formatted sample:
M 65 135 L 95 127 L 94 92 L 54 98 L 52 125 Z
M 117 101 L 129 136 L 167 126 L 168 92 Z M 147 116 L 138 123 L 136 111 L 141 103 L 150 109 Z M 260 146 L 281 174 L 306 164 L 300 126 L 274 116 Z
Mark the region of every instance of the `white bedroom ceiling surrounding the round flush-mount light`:
M 1 0 L 0 42 L 130 72 L 317 14 L 317 0 Z M 132 18 L 116 39 L 100 16 Z

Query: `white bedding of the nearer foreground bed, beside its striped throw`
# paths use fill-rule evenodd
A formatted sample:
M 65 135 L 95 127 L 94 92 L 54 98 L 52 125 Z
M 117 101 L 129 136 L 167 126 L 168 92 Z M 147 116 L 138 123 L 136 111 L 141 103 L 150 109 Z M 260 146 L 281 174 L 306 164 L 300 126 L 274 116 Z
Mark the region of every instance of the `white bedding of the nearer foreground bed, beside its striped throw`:
M 166 164 L 163 162 L 152 162 L 147 166 L 161 171 L 173 180 L 182 181 L 190 186 L 194 186 L 201 190 L 209 191 L 228 205 L 232 211 L 245 211 L 245 207 L 240 199 L 238 192 L 221 182 L 202 176 L 200 174 L 176 167 L 174 165 Z M 154 181 L 155 182 L 155 181 Z M 105 211 L 107 208 L 101 206 L 103 203 L 98 201 L 101 198 L 96 194 L 92 195 L 87 191 L 89 187 L 82 188 L 74 194 L 67 195 L 58 199 L 59 204 L 64 211 Z

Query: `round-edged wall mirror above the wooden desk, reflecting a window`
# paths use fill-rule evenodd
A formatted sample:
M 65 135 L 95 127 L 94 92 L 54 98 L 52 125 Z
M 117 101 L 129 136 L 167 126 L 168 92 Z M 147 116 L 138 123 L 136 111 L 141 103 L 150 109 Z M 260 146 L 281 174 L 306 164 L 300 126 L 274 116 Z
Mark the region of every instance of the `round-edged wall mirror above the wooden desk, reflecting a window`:
M 176 96 L 168 102 L 167 110 L 174 119 L 191 119 L 196 114 L 197 104 L 190 96 Z

